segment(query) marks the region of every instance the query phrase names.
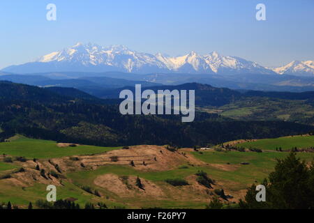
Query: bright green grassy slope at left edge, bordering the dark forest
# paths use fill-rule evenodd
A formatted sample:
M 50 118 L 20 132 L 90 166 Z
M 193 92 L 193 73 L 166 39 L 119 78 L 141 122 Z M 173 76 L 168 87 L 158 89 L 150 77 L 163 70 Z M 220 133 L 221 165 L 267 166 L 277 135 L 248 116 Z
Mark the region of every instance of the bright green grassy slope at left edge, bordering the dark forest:
M 0 143 L 0 154 L 6 153 L 13 156 L 27 158 L 49 159 L 71 155 L 87 155 L 105 153 L 120 147 L 85 146 L 58 147 L 57 142 L 39 139 L 16 137 L 13 141 Z

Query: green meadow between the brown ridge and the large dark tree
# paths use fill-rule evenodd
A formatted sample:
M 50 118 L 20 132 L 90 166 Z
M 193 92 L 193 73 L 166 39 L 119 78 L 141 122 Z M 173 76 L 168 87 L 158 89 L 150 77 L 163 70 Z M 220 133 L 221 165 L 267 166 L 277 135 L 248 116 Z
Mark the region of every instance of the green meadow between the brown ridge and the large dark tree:
M 99 167 L 94 171 L 78 171 L 68 174 L 68 177 L 79 184 L 94 185 L 94 179 L 103 174 L 116 174 L 118 176 L 140 176 L 147 180 L 154 182 L 164 182 L 168 178 L 186 178 L 187 176 L 196 174 L 197 171 L 205 171 L 209 176 L 215 180 L 223 180 L 230 185 L 233 190 L 245 189 L 248 185 L 257 180 L 262 181 L 268 174 L 273 171 L 276 164 L 276 159 L 285 158 L 288 153 L 241 153 L 238 151 L 216 152 L 204 151 L 201 153 L 192 152 L 192 154 L 199 160 L 209 164 L 227 164 L 236 165 L 237 169 L 234 171 L 225 171 L 210 165 L 203 166 L 188 166 L 186 169 L 172 169 L 169 171 L 137 171 L 129 166 L 107 166 Z M 310 162 L 313 153 L 298 153 L 298 157 L 302 160 Z M 241 162 L 249 162 L 249 165 L 241 165 Z

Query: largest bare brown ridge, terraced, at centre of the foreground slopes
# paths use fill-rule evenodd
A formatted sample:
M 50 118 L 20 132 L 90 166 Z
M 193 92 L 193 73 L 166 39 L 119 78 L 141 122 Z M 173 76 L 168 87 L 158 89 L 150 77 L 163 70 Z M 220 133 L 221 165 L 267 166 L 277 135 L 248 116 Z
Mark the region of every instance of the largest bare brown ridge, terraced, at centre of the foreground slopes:
M 78 160 L 71 160 L 70 157 L 38 160 L 37 162 L 28 160 L 27 162 L 22 163 L 22 166 L 35 169 L 36 164 L 38 164 L 40 169 L 45 169 L 46 172 L 49 172 L 52 170 L 57 171 L 54 167 L 54 165 L 57 164 L 61 172 L 73 172 L 97 169 L 98 167 L 105 165 L 130 165 L 130 161 L 133 160 L 135 164 L 135 167 L 133 168 L 137 170 L 166 171 L 176 169 L 184 164 L 192 164 L 195 166 L 207 164 L 197 160 L 193 155 L 187 153 L 187 151 L 190 151 L 190 149 L 186 148 L 180 149 L 176 152 L 171 152 L 164 146 L 131 146 L 129 149 L 119 149 L 97 155 L 73 156 L 78 158 Z M 112 161 L 111 157 L 117 157 L 117 162 Z M 143 162 L 145 164 L 143 164 Z M 82 167 L 81 164 L 84 164 L 84 167 Z M 228 170 L 232 167 L 221 165 L 221 167 L 217 166 L 216 168 Z

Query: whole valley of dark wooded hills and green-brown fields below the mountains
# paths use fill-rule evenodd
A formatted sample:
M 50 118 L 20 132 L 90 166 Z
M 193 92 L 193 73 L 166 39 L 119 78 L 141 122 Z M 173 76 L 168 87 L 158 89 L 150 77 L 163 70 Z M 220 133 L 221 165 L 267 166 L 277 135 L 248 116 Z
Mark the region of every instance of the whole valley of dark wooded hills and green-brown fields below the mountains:
M 143 91 L 195 90 L 195 121 L 182 123 L 174 114 L 120 114 L 119 92 L 135 93 L 124 84 L 141 82 L 90 81 L 112 87 L 82 79 L 62 81 L 73 87 L 0 82 L 3 206 L 52 208 L 46 187 L 55 185 L 59 203 L 80 208 L 204 209 L 216 199 L 223 208 L 242 208 L 251 185 L 290 151 L 311 167 L 313 91 L 145 83 Z

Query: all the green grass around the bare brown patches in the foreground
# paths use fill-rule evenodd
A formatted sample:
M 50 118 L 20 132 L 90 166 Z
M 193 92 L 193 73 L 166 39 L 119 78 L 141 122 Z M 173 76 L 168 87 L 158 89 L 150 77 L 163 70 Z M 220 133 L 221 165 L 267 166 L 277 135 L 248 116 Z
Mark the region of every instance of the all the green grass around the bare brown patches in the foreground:
M 38 159 L 47 159 L 52 157 L 65 157 L 70 155 L 85 155 L 92 153 L 104 153 L 117 148 L 105 148 L 98 146 L 77 146 L 59 148 L 54 141 L 27 139 L 25 137 L 13 137 L 10 142 L 0 144 L 0 154 L 6 153 L 14 156 L 26 156 L 29 158 L 36 157 Z M 290 149 L 293 146 L 301 148 L 301 146 L 313 145 L 312 137 L 283 137 L 279 139 L 261 139 L 252 143 L 246 143 L 249 146 L 274 150 L 273 146 L 277 145 L 282 148 Z M 244 146 L 245 144 L 239 144 Z M 248 146 L 248 147 L 249 147 Z M 269 146 L 269 147 L 267 147 Z M 276 146 L 275 146 L 276 148 Z M 97 203 L 102 201 L 110 208 L 204 208 L 204 201 L 193 201 L 193 194 L 185 199 L 173 199 L 176 194 L 169 191 L 171 187 L 165 183 L 166 179 L 181 178 L 186 179 L 193 176 L 197 171 L 205 171 L 210 178 L 218 182 L 219 187 L 224 188 L 234 194 L 240 190 L 246 190 L 248 185 L 260 183 L 267 178 L 271 171 L 274 171 L 276 159 L 283 159 L 289 153 L 264 151 L 263 153 L 255 152 L 239 152 L 239 151 L 188 151 L 197 160 L 204 163 L 191 165 L 181 163 L 178 167 L 167 171 L 140 171 L 130 167 L 130 165 L 107 165 L 98 167 L 94 170 L 64 172 L 66 178 L 62 180 L 63 186 L 57 187 L 58 199 L 67 199 L 74 197 L 77 203 L 84 207 L 87 202 Z M 297 156 L 306 162 L 310 162 L 314 158 L 314 153 L 297 153 Z M 241 165 L 241 162 L 248 162 L 248 165 Z M 228 164 L 227 164 L 228 163 Z M 22 163 L 21 163 L 22 164 Z M 17 169 L 20 163 L 13 164 L 0 162 L 0 174 L 4 175 L 13 169 Z M 184 166 L 184 168 L 182 168 Z M 225 167 L 221 168 L 221 167 Z M 228 169 L 229 168 L 229 169 Z M 160 187 L 167 194 L 166 198 L 154 199 L 154 197 L 119 197 L 105 187 L 99 187 L 94 180 L 104 174 L 115 174 L 117 176 L 139 176 Z M 97 197 L 94 194 L 82 190 L 80 186 L 89 186 L 93 190 L 98 190 L 103 196 Z M 112 185 L 114 187 L 114 185 Z M 22 187 L 13 185 L 10 180 L 0 179 L 0 201 L 17 203 L 27 206 L 29 201 L 35 202 L 38 199 L 45 199 L 47 194 L 46 185 L 35 183 L 32 186 Z

